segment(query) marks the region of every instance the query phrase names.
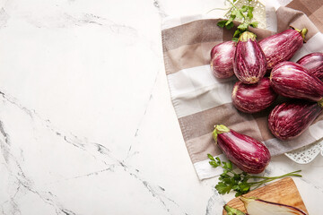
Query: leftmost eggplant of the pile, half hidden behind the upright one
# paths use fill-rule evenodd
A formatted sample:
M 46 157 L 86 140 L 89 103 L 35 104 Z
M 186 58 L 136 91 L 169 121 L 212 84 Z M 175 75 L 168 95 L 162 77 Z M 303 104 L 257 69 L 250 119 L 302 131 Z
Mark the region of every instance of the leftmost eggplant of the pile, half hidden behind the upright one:
M 220 43 L 211 50 L 211 70 L 216 78 L 229 78 L 233 73 L 234 41 Z

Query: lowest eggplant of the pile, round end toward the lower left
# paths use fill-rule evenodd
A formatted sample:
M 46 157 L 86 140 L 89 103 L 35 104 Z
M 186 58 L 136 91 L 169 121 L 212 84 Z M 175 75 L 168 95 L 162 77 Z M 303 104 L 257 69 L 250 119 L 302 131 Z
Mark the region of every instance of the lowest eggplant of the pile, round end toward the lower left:
M 319 102 L 296 100 L 277 105 L 268 116 L 271 133 L 280 140 L 291 140 L 305 132 L 322 113 L 323 99 Z

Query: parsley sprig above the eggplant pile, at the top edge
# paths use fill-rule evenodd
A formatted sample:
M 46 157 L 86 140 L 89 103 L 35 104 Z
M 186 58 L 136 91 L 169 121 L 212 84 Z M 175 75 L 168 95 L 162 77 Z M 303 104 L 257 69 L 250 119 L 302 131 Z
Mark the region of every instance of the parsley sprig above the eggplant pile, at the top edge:
M 252 2 L 252 0 L 248 0 L 248 5 L 242 5 L 240 8 L 238 8 L 234 4 L 236 1 L 237 0 L 232 0 L 231 2 L 230 0 L 227 0 L 227 2 L 231 4 L 231 8 L 230 8 L 231 14 L 230 14 L 229 20 L 223 20 L 223 21 L 217 22 L 218 26 L 222 28 L 225 27 L 226 29 L 230 30 L 234 26 L 233 21 L 235 19 L 242 20 L 237 30 L 234 31 L 233 39 L 232 39 L 234 41 L 238 41 L 241 33 L 249 30 L 249 26 L 253 28 L 258 27 L 258 22 L 251 22 L 253 18 L 254 7 L 250 6 L 249 4 L 250 2 Z

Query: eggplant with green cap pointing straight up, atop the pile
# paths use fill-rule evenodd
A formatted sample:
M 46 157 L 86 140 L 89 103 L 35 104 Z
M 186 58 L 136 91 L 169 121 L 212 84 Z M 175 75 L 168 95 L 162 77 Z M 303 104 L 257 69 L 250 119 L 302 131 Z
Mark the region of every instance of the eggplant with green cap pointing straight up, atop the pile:
M 238 39 L 234 53 L 233 71 L 240 82 L 257 83 L 266 74 L 266 56 L 256 35 L 245 31 Z

